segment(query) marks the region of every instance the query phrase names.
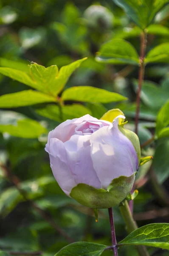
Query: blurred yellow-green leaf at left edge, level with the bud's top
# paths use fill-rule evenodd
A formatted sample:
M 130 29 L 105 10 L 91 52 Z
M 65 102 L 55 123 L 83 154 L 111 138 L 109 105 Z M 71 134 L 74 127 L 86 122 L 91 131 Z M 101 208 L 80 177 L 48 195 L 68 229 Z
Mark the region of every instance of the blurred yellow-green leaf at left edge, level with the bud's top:
M 23 119 L 18 120 L 17 125 L 0 125 L 0 132 L 21 138 L 38 138 L 47 130 L 35 120 Z

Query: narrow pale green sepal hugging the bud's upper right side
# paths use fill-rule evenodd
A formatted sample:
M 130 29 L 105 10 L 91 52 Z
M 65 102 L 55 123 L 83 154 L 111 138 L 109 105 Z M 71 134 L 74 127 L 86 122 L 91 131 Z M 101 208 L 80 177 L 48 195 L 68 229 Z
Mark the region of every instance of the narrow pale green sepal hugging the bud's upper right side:
M 122 132 L 122 134 L 124 134 L 132 142 L 132 145 L 134 146 L 138 156 L 138 164 L 140 164 L 141 148 L 140 148 L 140 141 L 138 139 L 137 134 L 135 134 L 135 132 L 133 131 L 123 128 L 121 125 L 118 125 L 118 129 Z

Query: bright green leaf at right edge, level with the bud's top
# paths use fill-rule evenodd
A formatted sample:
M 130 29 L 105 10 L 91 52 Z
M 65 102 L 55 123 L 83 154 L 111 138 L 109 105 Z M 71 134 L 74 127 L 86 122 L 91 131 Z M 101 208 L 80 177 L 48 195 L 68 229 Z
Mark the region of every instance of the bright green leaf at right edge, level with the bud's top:
M 155 134 L 158 137 L 161 133 L 161 130 L 169 125 L 169 100 L 166 102 L 165 105 L 160 109 L 157 115 L 157 122 L 156 122 L 156 130 Z M 165 130 L 166 133 L 166 130 Z

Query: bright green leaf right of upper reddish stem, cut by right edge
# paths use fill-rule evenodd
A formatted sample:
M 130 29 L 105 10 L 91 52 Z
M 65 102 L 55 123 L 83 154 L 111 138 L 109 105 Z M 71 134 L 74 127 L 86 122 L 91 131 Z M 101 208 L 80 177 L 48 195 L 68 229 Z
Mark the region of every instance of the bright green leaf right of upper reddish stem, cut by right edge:
M 153 48 L 144 60 L 145 63 L 163 62 L 169 63 L 169 43 L 163 43 Z

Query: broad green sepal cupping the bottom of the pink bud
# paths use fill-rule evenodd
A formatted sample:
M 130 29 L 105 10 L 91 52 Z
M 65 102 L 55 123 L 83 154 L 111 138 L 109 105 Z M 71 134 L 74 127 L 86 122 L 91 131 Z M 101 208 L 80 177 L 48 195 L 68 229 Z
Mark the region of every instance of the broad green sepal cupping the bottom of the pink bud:
M 70 196 L 90 208 L 105 209 L 119 205 L 132 190 L 135 174 L 113 179 L 107 190 L 80 183 L 71 190 Z

